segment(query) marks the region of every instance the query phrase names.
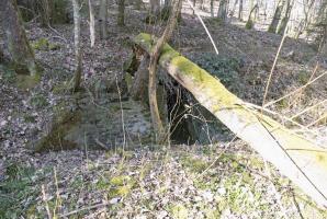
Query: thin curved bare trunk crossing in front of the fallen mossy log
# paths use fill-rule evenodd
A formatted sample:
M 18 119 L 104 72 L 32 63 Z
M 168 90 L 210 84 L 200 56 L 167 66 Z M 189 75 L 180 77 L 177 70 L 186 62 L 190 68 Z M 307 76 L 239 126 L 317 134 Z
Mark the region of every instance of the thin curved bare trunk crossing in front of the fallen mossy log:
M 151 112 L 151 120 L 153 120 L 155 132 L 157 135 L 158 142 L 165 140 L 164 139 L 165 128 L 160 119 L 158 102 L 157 102 L 157 78 L 156 78 L 157 62 L 158 62 L 158 58 L 160 56 L 162 46 L 172 35 L 181 7 L 182 7 L 182 1 L 174 0 L 173 7 L 172 7 L 172 13 L 169 16 L 166 30 L 162 36 L 158 39 L 153 51 L 150 53 L 148 95 L 149 95 L 149 105 L 150 105 L 150 112 Z

